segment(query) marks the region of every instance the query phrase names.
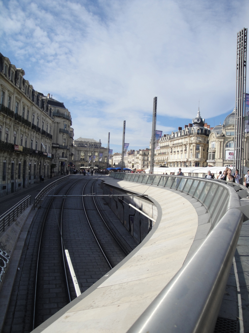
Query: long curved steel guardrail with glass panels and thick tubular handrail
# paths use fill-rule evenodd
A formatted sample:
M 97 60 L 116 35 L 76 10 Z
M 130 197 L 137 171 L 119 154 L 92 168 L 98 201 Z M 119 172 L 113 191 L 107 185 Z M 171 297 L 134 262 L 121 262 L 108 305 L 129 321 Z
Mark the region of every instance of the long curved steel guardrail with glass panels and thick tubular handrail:
M 239 193 L 245 197 L 249 191 L 235 183 L 188 176 L 115 172 L 110 176 L 184 192 L 202 203 L 211 222 L 201 246 L 127 333 L 212 333 L 244 218 Z

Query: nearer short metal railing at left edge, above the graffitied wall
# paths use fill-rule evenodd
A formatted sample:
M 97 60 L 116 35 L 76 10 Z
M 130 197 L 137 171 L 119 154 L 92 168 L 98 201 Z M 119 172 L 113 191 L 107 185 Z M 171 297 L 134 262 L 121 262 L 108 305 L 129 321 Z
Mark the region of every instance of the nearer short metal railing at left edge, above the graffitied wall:
M 0 232 L 5 230 L 5 227 L 9 226 L 11 222 L 14 221 L 19 214 L 25 210 L 31 203 L 31 196 L 28 195 L 21 201 L 19 201 L 15 206 L 7 210 L 4 214 L 0 216 Z

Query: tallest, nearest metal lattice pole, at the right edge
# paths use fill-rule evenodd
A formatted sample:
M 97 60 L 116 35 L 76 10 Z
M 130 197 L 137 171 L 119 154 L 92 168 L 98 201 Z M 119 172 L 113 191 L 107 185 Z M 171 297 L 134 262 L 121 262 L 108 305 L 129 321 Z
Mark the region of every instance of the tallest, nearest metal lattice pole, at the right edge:
M 236 101 L 234 124 L 234 160 L 233 171 L 239 170 L 243 178 L 244 165 L 244 137 L 245 137 L 245 94 L 246 94 L 246 51 L 247 28 L 237 34 L 237 73 L 236 73 Z

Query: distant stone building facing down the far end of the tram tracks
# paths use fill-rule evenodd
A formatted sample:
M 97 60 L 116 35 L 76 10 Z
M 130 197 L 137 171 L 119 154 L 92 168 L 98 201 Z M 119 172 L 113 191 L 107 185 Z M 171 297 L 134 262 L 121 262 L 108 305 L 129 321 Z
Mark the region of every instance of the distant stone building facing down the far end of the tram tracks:
M 81 166 L 106 168 L 108 163 L 107 148 L 100 141 L 79 138 L 73 141 L 72 163 L 76 168 Z

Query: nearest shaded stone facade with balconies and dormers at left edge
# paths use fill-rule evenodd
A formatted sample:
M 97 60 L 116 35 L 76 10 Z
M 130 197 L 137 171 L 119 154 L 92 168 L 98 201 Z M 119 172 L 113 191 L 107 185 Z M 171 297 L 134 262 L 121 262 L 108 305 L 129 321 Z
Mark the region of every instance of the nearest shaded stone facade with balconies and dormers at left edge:
M 50 175 L 53 118 L 46 101 L 0 54 L 0 195 Z

